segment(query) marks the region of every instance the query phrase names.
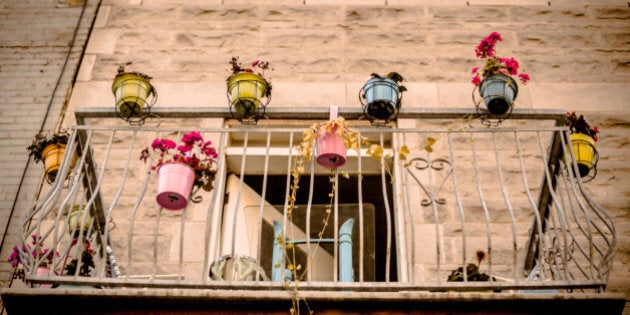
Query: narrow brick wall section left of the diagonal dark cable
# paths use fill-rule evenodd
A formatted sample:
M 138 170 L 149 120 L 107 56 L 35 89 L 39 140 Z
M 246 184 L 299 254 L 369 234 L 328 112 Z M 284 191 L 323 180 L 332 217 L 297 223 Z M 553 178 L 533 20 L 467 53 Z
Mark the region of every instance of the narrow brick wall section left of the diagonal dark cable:
M 40 130 L 63 120 L 97 1 L 0 2 L 0 285 L 10 281 L 5 263 L 16 240 L 16 222 L 42 183 L 42 165 L 26 147 Z M 76 29 L 76 35 L 75 35 Z M 10 226 L 7 226 L 10 224 Z

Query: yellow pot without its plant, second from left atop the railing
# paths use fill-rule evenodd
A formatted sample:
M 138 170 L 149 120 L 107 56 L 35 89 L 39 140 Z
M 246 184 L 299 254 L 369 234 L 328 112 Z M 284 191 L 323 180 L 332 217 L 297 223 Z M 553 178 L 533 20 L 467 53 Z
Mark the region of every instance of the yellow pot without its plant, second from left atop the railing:
M 267 81 L 254 73 L 238 73 L 228 78 L 231 106 L 240 118 L 256 116 L 261 99 L 267 93 Z

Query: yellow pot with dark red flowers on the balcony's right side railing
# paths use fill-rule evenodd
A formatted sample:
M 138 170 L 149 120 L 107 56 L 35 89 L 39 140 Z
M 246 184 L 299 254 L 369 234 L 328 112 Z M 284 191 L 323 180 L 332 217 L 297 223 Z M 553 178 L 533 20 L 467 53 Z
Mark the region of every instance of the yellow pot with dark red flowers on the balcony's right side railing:
M 584 115 L 577 116 L 575 112 L 567 112 L 566 125 L 571 132 L 569 138 L 575 153 L 580 177 L 585 177 L 597 164 L 598 155 L 595 142 L 597 142 L 599 129 L 597 126 L 591 128 L 584 119 Z

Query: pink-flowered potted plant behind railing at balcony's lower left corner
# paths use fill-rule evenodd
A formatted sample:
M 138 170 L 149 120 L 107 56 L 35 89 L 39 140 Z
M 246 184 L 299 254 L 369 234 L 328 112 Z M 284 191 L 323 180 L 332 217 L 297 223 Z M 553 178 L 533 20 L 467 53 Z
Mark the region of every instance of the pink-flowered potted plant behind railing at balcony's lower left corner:
M 49 248 L 44 248 L 41 236 L 37 237 L 35 234 L 31 235 L 31 244 L 22 245 L 22 248 L 18 245 L 13 246 L 13 251 L 9 255 L 7 262 L 11 264 L 11 267 L 17 268 L 13 273 L 13 279 L 24 280 L 25 271 L 24 265 L 30 264 L 30 261 L 23 261 L 22 259 L 33 260 L 37 263 L 37 275 L 48 275 L 50 273 L 50 265 L 52 265 L 53 258 L 55 256 L 60 257 L 59 253 Z M 28 257 L 28 256 L 31 257 Z M 40 288 L 50 288 L 50 284 L 42 284 Z

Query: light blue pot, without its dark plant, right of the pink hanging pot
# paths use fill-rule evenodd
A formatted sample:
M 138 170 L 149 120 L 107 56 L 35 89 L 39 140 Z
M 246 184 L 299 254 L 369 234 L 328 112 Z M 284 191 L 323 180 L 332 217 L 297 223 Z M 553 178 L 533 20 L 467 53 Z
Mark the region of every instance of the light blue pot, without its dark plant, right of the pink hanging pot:
M 387 120 L 397 116 L 401 94 L 394 80 L 373 77 L 363 86 L 363 93 L 368 117 Z

